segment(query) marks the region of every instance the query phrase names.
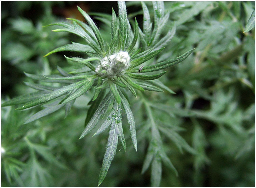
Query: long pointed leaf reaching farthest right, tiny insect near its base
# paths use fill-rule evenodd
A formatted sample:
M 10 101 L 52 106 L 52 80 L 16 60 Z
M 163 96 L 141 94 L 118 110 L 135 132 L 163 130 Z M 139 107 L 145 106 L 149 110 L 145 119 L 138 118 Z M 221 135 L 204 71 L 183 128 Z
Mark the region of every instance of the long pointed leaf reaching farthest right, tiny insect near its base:
M 166 60 L 166 61 L 154 64 L 154 65 L 146 66 L 140 72 L 153 72 L 153 71 L 169 68 L 169 67 L 176 65 L 176 64 L 180 63 L 181 61 L 185 60 L 194 50 L 195 49 L 189 50 L 188 52 L 182 54 L 181 56 L 179 56 L 175 59 Z M 130 70 L 130 72 L 136 72 L 136 70 L 132 69 L 132 70 Z

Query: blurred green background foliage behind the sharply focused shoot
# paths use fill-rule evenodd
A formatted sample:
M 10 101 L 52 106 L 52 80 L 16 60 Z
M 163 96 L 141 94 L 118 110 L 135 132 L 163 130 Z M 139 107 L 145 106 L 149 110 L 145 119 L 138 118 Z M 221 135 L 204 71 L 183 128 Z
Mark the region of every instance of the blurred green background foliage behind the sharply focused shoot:
M 111 3 L 116 10 L 117 3 Z M 103 9 L 103 4 L 89 2 L 84 6 L 87 12 L 110 14 L 110 5 Z M 152 12 L 152 4 L 146 4 Z M 138 149 L 135 152 L 132 148 L 128 126 L 124 126 L 126 152 L 118 146 L 101 186 L 150 186 L 150 179 L 158 178 L 154 170 L 143 175 L 141 171 L 152 147 L 162 147 L 178 171 L 176 176 L 162 165 L 160 186 L 255 186 L 255 28 L 244 32 L 254 3 L 164 4 L 165 11 L 170 12 L 170 24 L 175 21 L 176 34 L 157 61 L 196 49 L 160 79 L 176 95 L 145 92 L 147 98 L 128 96 Z M 50 74 L 56 71 L 56 65 L 67 66 L 62 53 L 43 56 L 79 39 L 42 28 L 64 20 L 65 15 L 53 14 L 54 10 L 72 10 L 75 2 L 1 5 L 3 103 L 8 96 L 32 91 L 22 83 L 28 81 L 23 71 Z M 130 21 L 136 16 L 143 28 L 140 2 L 126 5 Z M 111 27 L 104 22 L 98 22 L 98 26 L 108 41 Z M 90 133 L 78 140 L 92 96 L 89 92 L 79 97 L 65 119 L 61 110 L 26 125 L 23 123 L 40 107 L 29 111 L 17 111 L 14 106 L 1 108 L 1 186 L 96 186 L 107 132 L 95 137 Z M 161 146 L 151 143 L 152 124 L 160 130 L 156 136 L 160 136 Z

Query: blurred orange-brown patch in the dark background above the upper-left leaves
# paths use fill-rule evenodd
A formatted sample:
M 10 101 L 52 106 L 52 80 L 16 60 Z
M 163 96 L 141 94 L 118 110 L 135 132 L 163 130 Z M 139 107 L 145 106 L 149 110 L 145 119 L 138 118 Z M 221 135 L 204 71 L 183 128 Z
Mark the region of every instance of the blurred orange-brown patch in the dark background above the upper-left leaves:
M 85 12 L 89 11 L 89 5 L 84 2 L 77 2 L 73 5 L 67 5 L 66 7 L 53 7 L 52 12 L 55 15 L 60 15 L 65 18 L 75 18 L 80 21 L 85 21 L 83 15 L 79 12 L 77 9 L 77 6 L 79 6 L 81 9 L 83 9 Z

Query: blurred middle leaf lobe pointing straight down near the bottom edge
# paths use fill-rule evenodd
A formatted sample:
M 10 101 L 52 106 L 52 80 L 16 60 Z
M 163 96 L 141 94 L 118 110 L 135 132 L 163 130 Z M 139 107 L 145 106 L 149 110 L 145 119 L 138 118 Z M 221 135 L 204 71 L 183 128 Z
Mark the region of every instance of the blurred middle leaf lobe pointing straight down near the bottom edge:
M 151 166 L 151 186 L 159 187 L 162 177 L 162 163 L 159 155 L 156 155 L 153 159 Z

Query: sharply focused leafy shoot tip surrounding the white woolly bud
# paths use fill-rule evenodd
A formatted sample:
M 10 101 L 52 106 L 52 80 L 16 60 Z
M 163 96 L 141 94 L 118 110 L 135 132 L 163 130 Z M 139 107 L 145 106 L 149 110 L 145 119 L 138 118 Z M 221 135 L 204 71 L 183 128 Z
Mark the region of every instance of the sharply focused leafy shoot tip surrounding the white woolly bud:
M 98 124 L 100 118 L 107 116 L 95 133 L 95 135 L 97 135 L 110 126 L 106 151 L 100 171 L 99 185 L 104 180 L 110 163 L 116 153 L 118 140 L 121 142 L 125 151 L 126 144 L 122 128 L 121 114 L 122 106 L 127 115 L 132 144 L 135 150 L 137 150 L 135 121 L 129 103 L 123 94 L 125 90 L 122 89 L 128 89 L 135 97 L 137 96 L 135 90 L 142 92 L 144 90 L 157 92 L 167 90 L 170 93 L 174 93 L 160 81 L 155 81 L 155 79 L 158 79 L 167 71 L 154 74 L 144 73 L 155 72 L 176 65 L 186 59 L 194 50 L 192 49 L 175 59 L 144 66 L 144 68 L 138 72 L 138 66 L 141 66 L 146 61 L 159 55 L 163 51 L 164 46 L 175 34 L 175 27 L 173 27 L 160 39 L 163 27 L 165 27 L 165 24 L 169 19 L 169 13 L 164 14 L 163 2 L 153 2 L 154 28 L 152 28 L 152 23 L 150 21 L 149 10 L 143 2 L 142 7 L 144 12 L 143 31 L 138 27 L 136 19 L 132 31 L 131 25 L 127 19 L 125 2 L 118 2 L 118 18 L 112 9 L 110 44 L 104 42 L 103 37 L 93 20 L 80 7 L 78 7 L 78 10 L 87 21 L 87 24 L 76 19 L 68 19 L 71 20 L 72 23 L 60 22 L 48 25 L 62 26 L 63 28 L 55 29 L 53 31 L 65 31 L 76 34 L 82 37 L 86 44 L 72 42 L 72 44 L 61 46 L 45 56 L 61 51 L 86 53 L 88 56 L 86 59 L 65 56 L 66 59 L 78 62 L 84 65 L 84 67 L 81 70 L 74 70 L 71 72 L 66 72 L 60 67 L 57 67 L 61 75 L 43 76 L 25 73 L 28 77 L 36 81 L 60 83 L 61 87 L 25 83 L 27 86 L 38 91 L 13 98 L 2 104 L 2 106 L 21 104 L 17 109 L 27 109 L 43 105 L 45 108 L 31 116 L 25 122 L 26 124 L 51 114 L 62 107 L 65 107 L 67 116 L 76 98 L 94 87 L 95 93 L 92 98 L 93 104 L 88 111 L 85 121 L 86 127 L 82 132 L 80 139 Z M 138 39 L 140 39 L 140 44 L 142 45 L 141 48 L 135 47 L 136 43 L 138 43 Z M 124 54 L 127 60 L 125 62 L 120 58 L 121 55 Z M 123 63 L 122 66 L 121 63 Z M 107 94 L 105 95 L 105 93 Z M 107 110 L 111 104 L 112 109 L 107 115 Z M 163 154 L 157 154 L 157 156 L 158 158 L 164 156 L 163 160 L 171 164 L 167 156 Z M 157 163 L 157 158 L 154 159 L 153 163 Z

